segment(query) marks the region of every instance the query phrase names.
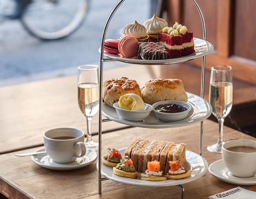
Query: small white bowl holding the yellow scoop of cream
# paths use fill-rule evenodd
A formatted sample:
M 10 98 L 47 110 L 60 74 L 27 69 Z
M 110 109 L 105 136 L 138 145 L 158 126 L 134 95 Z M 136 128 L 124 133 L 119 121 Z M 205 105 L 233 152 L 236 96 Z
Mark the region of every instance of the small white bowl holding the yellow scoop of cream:
M 145 120 L 148 115 L 150 114 L 151 111 L 153 111 L 153 106 L 151 106 L 150 104 L 146 104 L 145 103 L 145 110 L 144 111 L 129 111 L 126 109 L 121 109 L 121 107 L 119 107 L 118 102 L 114 103 L 113 106 L 116 109 L 117 114 L 125 119 L 125 120 L 131 120 L 131 121 L 141 121 L 141 120 Z

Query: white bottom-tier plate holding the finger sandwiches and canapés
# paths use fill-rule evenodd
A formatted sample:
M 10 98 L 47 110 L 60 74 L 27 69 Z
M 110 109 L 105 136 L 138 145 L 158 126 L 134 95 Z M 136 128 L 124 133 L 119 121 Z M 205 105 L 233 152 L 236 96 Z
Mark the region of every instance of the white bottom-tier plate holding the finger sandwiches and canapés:
M 125 148 L 120 150 L 121 154 L 124 155 Z M 119 177 L 116 176 L 113 173 L 113 168 L 107 167 L 104 164 L 101 164 L 101 171 L 102 175 L 117 181 L 119 183 L 127 184 L 127 185 L 136 185 L 136 186 L 144 186 L 144 187 L 166 187 L 166 186 L 175 186 L 175 185 L 181 185 L 185 183 L 189 183 L 191 181 L 194 181 L 200 177 L 202 177 L 208 167 L 207 161 L 204 159 L 204 157 L 191 152 L 191 151 L 186 151 L 186 159 L 188 163 L 191 166 L 191 176 L 189 178 L 184 178 L 180 180 L 163 180 L 163 181 L 146 181 L 146 180 L 140 180 L 140 173 L 138 175 L 138 178 L 132 179 L 132 178 L 124 178 L 124 177 Z M 97 169 L 98 169 L 98 163 L 97 163 Z

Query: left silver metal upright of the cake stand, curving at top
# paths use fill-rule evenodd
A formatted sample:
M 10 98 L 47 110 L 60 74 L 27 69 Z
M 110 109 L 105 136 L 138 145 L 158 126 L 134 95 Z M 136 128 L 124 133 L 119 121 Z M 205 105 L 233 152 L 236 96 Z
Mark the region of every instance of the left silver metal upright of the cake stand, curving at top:
M 108 16 L 108 19 L 106 21 L 106 24 L 105 24 L 105 27 L 103 29 L 103 33 L 102 33 L 102 38 L 101 38 L 101 49 L 100 49 L 100 77 L 99 77 L 99 80 L 100 80 L 100 84 L 99 84 L 99 155 L 98 155 L 98 162 L 99 162 L 99 176 L 98 176 L 98 193 L 101 194 L 101 129 L 102 129 L 102 126 L 101 126 L 101 119 L 102 119 L 102 115 L 101 115 L 101 112 L 102 112 L 102 79 L 103 79 L 103 61 L 105 61 L 103 59 L 103 45 L 104 45 L 104 41 L 105 41 L 105 37 L 106 37 L 106 33 L 107 33 L 107 29 L 108 29 L 108 26 L 109 26 L 109 22 L 111 21 L 113 15 L 115 14 L 115 12 L 117 11 L 117 9 L 119 8 L 119 6 L 121 6 L 122 3 L 124 3 L 125 0 L 121 0 L 118 2 L 118 4 L 116 4 L 114 10 L 110 13 L 110 15 Z M 109 59 L 106 60 L 106 61 L 110 61 Z

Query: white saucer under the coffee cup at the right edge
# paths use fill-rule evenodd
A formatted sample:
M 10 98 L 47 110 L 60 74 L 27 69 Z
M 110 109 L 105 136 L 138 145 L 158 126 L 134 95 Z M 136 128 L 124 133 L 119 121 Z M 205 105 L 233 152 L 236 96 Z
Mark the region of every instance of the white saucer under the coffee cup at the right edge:
M 211 175 L 225 181 L 226 183 L 234 185 L 256 185 L 256 176 L 251 178 L 239 178 L 231 174 L 227 167 L 225 167 L 223 160 L 218 160 L 210 164 L 208 168 Z

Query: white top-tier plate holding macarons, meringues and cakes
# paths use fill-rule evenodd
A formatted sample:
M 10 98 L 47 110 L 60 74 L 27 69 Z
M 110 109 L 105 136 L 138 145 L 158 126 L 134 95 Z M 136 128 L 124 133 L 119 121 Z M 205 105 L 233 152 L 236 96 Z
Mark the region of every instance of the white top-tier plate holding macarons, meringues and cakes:
M 213 45 L 210 42 L 207 42 L 203 39 L 195 38 L 194 37 L 194 43 L 195 43 L 195 53 L 187 56 L 182 56 L 174 59 L 169 60 L 138 60 L 138 59 L 130 59 L 130 58 L 124 58 L 119 54 L 111 54 L 106 51 L 104 51 L 104 55 L 110 59 L 115 59 L 121 62 L 125 63 L 134 63 L 134 64 L 149 64 L 149 65 L 158 65 L 158 64 L 174 64 L 174 63 L 180 63 L 180 62 L 186 62 L 189 60 L 196 59 L 198 57 L 202 57 L 204 55 L 209 54 L 213 51 Z M 100 48 L 99 48 L 100 52 Z

